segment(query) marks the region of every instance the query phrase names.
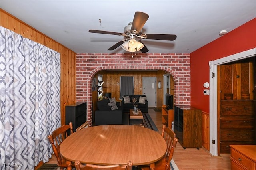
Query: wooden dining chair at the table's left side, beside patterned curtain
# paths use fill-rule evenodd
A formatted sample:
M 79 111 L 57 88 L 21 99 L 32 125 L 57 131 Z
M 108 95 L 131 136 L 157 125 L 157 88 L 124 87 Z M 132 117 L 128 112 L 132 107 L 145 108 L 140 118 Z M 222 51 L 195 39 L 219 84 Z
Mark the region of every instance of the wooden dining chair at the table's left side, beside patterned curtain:
M 66 159 L 63 158 L 60 155 L 60 144 L 63 142 L 63 140 L 68 137 L 67 130 L 70 130 L 70 134 L 73 133 L 73 125 L 72 122 L 69 123 L 69 125 L 63 125 L 56 130 L 52 132 L 48 136 L 48 140 L 50 144 L 52 144 L 52 150 L 54 152 L 54 155 L 57 158 L 57 165 L 60 167 L 61 170 L 64 168 L 67 168 L 68 166 L 73 166 L 74 167 L 74 162 L 67 163 Z

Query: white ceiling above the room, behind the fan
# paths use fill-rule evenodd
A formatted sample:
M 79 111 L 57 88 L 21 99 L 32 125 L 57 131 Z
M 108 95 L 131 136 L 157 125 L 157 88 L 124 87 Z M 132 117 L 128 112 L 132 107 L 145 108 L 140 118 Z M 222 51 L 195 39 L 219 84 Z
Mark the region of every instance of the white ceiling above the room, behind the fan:
M 219 38 L 220 30 L 256 17 L 256 0 L 0 0 L 0 7 L 76 53 L 125 53 L 107 50 L 122 36 L 88 30 L 122 33 L 136 11 L 149 15 L 142 33 L 177 35 L 142 39 L 148 53 L 191 53 Z

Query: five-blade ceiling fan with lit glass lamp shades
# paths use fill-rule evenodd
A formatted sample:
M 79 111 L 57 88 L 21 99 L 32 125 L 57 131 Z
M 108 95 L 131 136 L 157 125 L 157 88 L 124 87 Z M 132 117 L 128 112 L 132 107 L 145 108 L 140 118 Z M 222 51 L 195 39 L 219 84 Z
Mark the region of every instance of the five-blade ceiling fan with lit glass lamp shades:
M 125 51 L 141 51 L 142 53 L 146 53 L 149 50 L 141 41 L 141 39 L 173 41 L 177 38 L 177 36 L 173 34 L 142 34 L 142 27 L 144 26 L 148 18 L 148 14 L 144 12 L 135 12 L 133 21 L 130 22 L 128 26 L 124 27 L 124 33 L 101 30 L 89 30 L 89 32 L 124 36 L 124 40 L 121 40 L 120 42 L 116 43 L 108 50 L 114 50 L 121 45 L 121 47 Z

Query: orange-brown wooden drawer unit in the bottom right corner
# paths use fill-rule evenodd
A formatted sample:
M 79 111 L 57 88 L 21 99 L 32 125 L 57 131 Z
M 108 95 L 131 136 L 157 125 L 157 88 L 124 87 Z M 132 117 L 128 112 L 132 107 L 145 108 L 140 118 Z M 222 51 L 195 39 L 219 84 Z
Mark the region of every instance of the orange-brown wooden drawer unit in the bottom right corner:
M 230 145 L 230 147 L 231 169 L 256 169 L 256 145 Z

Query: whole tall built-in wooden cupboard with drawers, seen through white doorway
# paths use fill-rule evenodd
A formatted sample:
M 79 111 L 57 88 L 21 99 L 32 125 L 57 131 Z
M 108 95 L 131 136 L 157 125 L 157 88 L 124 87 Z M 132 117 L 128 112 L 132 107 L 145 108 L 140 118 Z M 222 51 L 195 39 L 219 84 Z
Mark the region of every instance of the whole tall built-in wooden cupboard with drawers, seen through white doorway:
M 255 143 L 255 57 L 219 66 L 218 152 Z

